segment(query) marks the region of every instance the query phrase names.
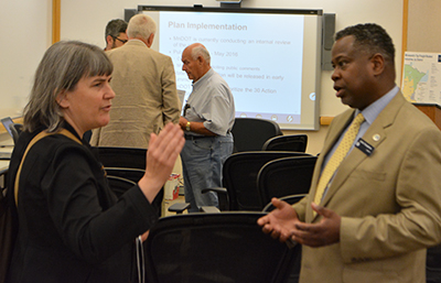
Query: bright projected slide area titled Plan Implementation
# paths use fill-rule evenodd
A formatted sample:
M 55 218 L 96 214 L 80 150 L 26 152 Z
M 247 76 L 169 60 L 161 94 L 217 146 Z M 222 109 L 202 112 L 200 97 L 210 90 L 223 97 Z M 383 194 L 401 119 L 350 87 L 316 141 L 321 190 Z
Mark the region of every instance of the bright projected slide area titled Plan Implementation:
M 300 122 L 303 15 L 161 12 L 159 25 L 159 50 L 173 58 L 178 89 L 191 92 L 181 54 L 201 42 L 233 90 L 237 116 Z

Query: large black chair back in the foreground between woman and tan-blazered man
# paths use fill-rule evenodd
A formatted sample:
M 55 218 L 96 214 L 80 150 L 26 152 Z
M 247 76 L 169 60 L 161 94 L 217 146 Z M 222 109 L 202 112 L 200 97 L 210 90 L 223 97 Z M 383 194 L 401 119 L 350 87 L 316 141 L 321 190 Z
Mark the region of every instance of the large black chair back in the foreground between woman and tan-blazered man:
M 263 215 L 184 214 L 160 218 L 146 243 L 148 282 L 287 282 L 299 250 L 263 233 L 256 224 Z

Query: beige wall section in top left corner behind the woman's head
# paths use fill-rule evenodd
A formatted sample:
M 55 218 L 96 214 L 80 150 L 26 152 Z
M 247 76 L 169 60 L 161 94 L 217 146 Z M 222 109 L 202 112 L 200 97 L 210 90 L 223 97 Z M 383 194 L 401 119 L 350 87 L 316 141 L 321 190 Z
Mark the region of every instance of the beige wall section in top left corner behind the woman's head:
M 52 0 L 0 1 L 0 117 L 18 117 L 51 45 Z

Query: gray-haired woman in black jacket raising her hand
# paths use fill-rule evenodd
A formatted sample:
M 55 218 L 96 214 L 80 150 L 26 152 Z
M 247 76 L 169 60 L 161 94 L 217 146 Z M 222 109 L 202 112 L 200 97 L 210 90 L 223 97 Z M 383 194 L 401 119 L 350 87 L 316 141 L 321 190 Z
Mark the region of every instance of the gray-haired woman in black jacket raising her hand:
M 19 231 L 9 282 L 133 282 L 135 242 L 158 220 L 151 205 L 185 142 L 169 123 L 151 135 L 146 174 L 119 199 L 83 134 L 109 122 L 112 65 L 82 42 L 52 45 L 40 63 L 24 129 L 12 154 L 9 187 L 22 162 L 14 197 Z M 61 131 L 69 134 L 58 134 Z M 71 135 L 71 137 L 68 137 Z M 12 184 L 12 186 L 11 186 Z M 11 200 L 11 199 L 9 199 Z

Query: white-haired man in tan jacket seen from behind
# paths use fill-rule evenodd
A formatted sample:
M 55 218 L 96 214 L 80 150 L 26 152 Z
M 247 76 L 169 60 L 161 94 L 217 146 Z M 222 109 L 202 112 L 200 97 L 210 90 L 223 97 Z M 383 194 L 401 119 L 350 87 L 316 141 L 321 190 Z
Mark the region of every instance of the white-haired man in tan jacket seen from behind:
M 150 48 L 157 24 L 146 14 L 129 21 L 129 41 L 107 52 L 114 64 L 110 122 L 94 130 L 92 145 L 149 146 L 150 133 L 168 122 L 178 123 L 180 101 L 172 59 Z

